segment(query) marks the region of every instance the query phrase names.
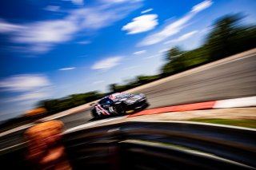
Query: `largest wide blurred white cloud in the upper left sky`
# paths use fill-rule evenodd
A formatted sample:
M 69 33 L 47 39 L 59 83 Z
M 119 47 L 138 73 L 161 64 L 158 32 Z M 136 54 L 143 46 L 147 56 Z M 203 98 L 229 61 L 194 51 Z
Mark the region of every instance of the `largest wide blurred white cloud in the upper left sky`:
M 67 20 L 35 22 L 24 26 L 0 22 L 0 26 L 2 24 L 5 26 L 2 30 L 12 34 L 12 42 L 29 45 L 30 48 L 26 47 L 24 51 L 32 53 L 46 53 L 54 44 L 69 41 L 78 31 L 78 27 Z

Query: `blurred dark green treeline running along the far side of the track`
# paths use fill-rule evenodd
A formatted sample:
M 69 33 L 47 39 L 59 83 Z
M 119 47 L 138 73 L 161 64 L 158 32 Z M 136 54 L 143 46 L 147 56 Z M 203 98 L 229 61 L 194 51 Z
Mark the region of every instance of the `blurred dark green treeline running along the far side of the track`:
M 138 76 L 126 85 L 112 84 L 109 86 L 110 93 L 122 92 L 255 47 L 256 26 L 242 24 L 242 17 L 239 14 L 227 15 L 214 22 L 210 33 L 206 35 L 205 42 L 200 48 L 186 51 L 176 46 L 167 51 L 165 55 L 166 65 L 163 65 L 159 75 Z M 50 115 L 95 101 L 107 94 L 97 91 L 73 94 L 62 99 L 40 101 L 37 106 L 45 108 L 47 110 L 46 115 Z

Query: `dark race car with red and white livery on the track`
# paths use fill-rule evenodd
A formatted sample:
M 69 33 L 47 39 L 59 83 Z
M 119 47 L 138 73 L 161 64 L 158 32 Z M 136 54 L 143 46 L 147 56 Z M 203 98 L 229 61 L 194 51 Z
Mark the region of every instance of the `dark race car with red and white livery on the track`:
M 109 115 L 125 115 L 145 109 L 149 104 L 142 93 L 113 93 L 103 97 L 97 104 L 91 105 L 91 114 L 94 118 Z

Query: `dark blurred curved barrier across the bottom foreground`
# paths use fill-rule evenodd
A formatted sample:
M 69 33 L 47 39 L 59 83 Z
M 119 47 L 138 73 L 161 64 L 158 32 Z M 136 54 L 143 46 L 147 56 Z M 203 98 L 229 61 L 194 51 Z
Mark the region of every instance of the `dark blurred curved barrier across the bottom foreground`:
M 255 135 L 249 128 L 135 121 L 64 132 L 58 144 L 73 169 L 253 169 Z M 2 151 L 1 166 L 30 169 L 26 146 Z

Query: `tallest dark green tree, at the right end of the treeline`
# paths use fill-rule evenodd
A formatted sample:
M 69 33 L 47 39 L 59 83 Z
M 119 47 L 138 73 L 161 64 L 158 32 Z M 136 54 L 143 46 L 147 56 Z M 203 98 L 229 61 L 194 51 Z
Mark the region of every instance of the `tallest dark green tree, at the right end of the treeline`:
M 214 23 L 205 45 L 210 61 L 256 46 L 255 26 L 242 26 L 241 23 L 241 14 L 227 15 Z

